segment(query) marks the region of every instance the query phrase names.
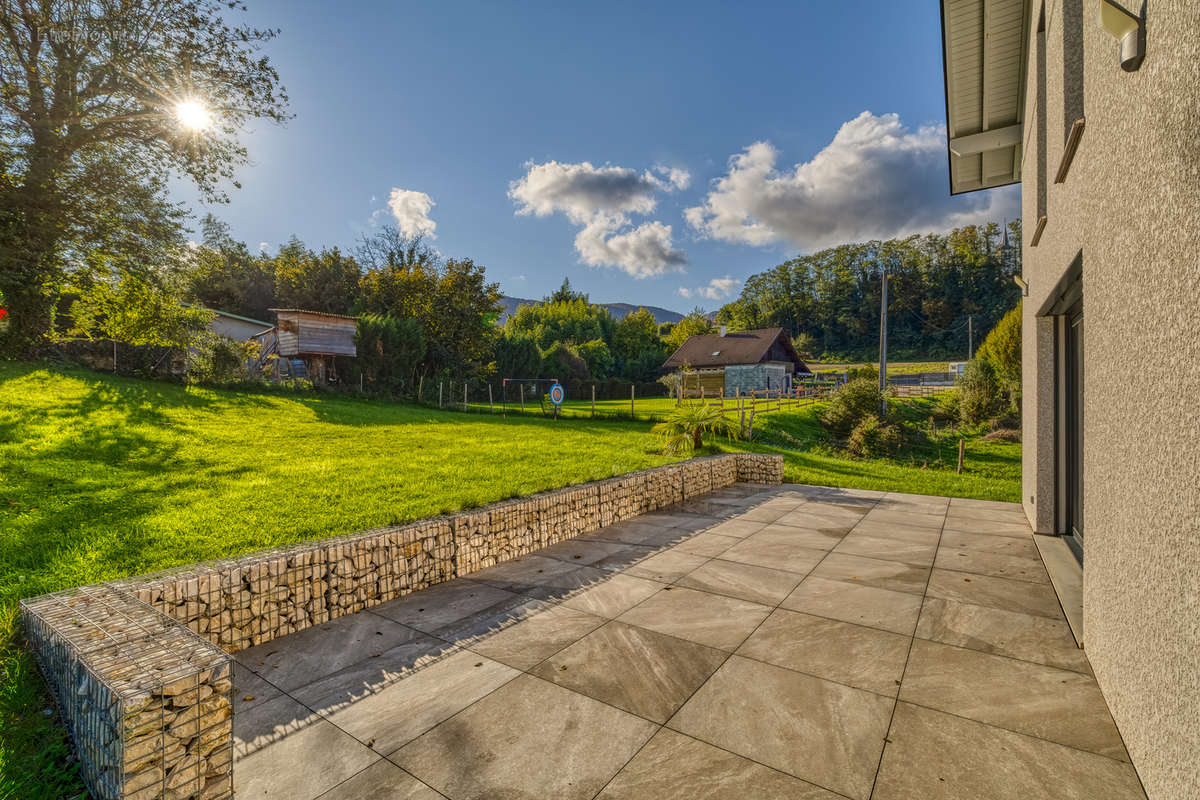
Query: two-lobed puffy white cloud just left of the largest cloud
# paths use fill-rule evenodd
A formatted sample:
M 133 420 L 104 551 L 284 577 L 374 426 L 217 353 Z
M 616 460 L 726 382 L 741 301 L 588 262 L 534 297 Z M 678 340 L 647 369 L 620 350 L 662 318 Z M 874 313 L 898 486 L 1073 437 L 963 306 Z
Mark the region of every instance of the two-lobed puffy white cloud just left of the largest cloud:
M 672 245 L 671 225 L 653 221 L 635 227 L 630 215 L 652 213 L 660 192 L 684 188 L 690 180 L 686 170 L 668 167 L 638 173 L 587 161 L 529 162 L 526 174 L 509 185 L 509 197 L 518 215 L 562 213 L 580 225 L 575 249 L 584 264 L 644 278 L 679 271 L 688 257 Z

